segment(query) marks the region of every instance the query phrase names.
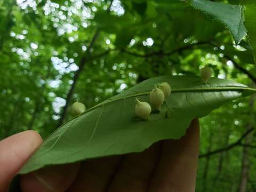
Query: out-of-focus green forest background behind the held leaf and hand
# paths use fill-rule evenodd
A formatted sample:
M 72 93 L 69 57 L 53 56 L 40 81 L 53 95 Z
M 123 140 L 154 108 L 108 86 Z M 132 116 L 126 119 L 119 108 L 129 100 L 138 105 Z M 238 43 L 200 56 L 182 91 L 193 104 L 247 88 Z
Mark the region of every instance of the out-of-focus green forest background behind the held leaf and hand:
M 178 0 L 0 0 L 0 58 L 0 139 L 29 129 L 45 138 L 72 102 L 90 108 L 149 77 L 209 65 L 219 78 L 256 82 L 247 38 L 235 45 L 222 23 Z M 201 154 L 236 142 L 255 110 L 251 97 L 201 119 Z M 255 145 L 251 132 L 200 158 L 196 191 L 243 191 L 242 179 L 256 191 Z

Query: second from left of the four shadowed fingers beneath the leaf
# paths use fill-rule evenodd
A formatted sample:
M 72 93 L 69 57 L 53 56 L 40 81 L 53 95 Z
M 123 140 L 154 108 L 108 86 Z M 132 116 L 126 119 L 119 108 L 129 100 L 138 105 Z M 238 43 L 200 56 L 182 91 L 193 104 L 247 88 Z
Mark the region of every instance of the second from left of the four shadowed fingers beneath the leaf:
M 105 191 L 121 158 L 122 156 L 110 156 L 83 162 L 76 181 L 68 191 Z

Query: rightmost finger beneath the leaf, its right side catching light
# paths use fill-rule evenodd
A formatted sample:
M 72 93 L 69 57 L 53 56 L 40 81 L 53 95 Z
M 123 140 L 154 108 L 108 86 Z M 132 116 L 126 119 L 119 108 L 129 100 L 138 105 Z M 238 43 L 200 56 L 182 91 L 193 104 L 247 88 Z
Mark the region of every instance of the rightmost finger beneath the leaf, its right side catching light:
M 162 155 L 149 191 L 195 191 L 198 155 L 199 123 L 198 119 L 194 119 L 184 137 L 164 141 Z

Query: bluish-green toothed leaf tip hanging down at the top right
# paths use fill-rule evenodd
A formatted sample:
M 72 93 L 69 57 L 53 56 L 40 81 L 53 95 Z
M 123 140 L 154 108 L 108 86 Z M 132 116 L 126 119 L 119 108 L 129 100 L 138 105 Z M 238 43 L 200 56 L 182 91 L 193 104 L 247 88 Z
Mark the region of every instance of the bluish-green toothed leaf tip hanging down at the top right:
M 246 35 L 242 6 L 204 0 L 192 0 L 191 5 L 223 23 L 230 30 L 236 44 Z

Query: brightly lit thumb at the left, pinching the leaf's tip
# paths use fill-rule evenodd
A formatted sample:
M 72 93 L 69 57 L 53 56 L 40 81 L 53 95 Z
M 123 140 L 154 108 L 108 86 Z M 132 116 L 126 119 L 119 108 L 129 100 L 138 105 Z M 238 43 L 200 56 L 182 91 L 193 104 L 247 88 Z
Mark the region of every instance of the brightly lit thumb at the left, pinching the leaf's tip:
M 11 179 L 41 143 L 42 138 L 35 131 L 24 131 L 0 141 L 0 191 L 6 190 Z

